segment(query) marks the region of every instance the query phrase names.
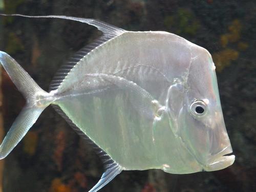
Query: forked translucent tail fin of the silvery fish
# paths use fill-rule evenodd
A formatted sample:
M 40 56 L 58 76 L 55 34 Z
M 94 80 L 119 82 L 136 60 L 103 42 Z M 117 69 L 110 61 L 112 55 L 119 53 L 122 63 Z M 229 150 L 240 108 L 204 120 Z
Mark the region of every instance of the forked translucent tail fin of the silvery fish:
M 51 96 L 7 53 L 0 51 L 0 63 L 27 101 L 0 145 L 0 159 L 3 159 L 22 140 L 41 112 L 51 103 Z

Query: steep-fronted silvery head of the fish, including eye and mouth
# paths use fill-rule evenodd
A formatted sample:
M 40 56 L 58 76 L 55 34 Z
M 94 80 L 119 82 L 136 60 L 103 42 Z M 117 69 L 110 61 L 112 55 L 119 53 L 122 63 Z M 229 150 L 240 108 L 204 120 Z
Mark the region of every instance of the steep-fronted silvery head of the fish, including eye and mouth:
M 234 155 L 226 156 L 232 153 L 232 147 L 222 114 L 215 65 L 204 48 L 191 46 L 183 84 L 182 107 L 176 118 L 178 138 L 203 170 L 231 165 Z

